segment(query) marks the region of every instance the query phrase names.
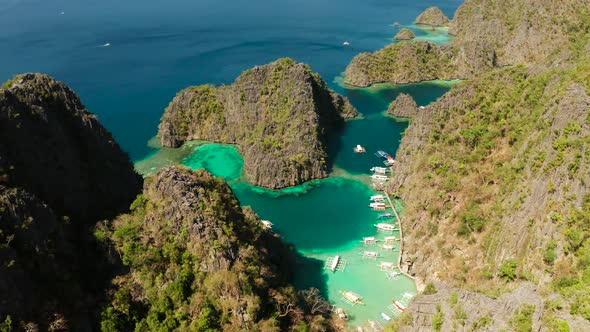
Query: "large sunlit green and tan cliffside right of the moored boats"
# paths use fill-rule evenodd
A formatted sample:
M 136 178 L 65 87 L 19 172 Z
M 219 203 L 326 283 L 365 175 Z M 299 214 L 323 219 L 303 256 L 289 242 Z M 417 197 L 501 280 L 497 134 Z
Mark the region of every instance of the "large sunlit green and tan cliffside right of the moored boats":
M 511 67 L 461 83 L 418 112 L 398 149 L 389 191 L 406 204 L 412 273 L 493 297 L 524 281 L 543 290 L 518 307 L 490 302 L 500 307 L 486 326 L 590 327 L 580 279 L 590 247 L 589 63 Z M 428 299 L 416 300 L 413 330 L 485 314 L 475 302 L 459 314 L 434 311 L 436 303 L 424 310 Z

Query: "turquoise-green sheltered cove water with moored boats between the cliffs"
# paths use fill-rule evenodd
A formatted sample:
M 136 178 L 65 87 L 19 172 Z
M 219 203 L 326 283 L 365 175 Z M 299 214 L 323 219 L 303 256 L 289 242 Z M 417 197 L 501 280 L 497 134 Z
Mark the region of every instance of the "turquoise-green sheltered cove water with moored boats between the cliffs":
M 337 81 L 337 80 L 335 80 Z M 370 187 L 369 169 L 381 161 L 373 153 L 382 149 L 394 155 L 401 135 L 408 125 L 386 115 L 389 103 L 399 93 L 412 95 L 419 105 L 427 105 L 444 94 L 451 82 L 424 82 L 410 85 L 380 84 L 359 89 L 334 84 L 332 88 L 346 95 L 362 116 L 347 122 L 346 128 L 332 142 L 330 154 L 334 170 L 327 179 L 311 181 L 280 191 L 254 187 L 247 183 L 242 171 L 243 160 L 236 146 L 190 142 L 180 149 L 161 149 L 136 164 L 142 173 L 172 163 L 205 168 L 223 177 L 243 206 L 251 206 L 261 219 L 270 220 L 287 243 L 301 254 L 298 259 L 295 285 L 300 289 L 316 287 L 337 307 L 350 315 L 350 325 L 366 325 L 368 320 L 385 323 L 380 314 L 390 317 L 392 299 L 405 293 L 416 293 L 414 282 L 400 276 L 388 279 L 381 271 L 381 262 L 396 262 L 397 249 L 384 250 L 379 244 L 365 246 L 363 237 L 398 236 L 376 232 L 378 212 L 368 207 L 369 197 L 376 194 Z M 355 154 L 352 148 L 362 144 L 366 154 Z M 363 257 L 364 251 L 375 251 L 378 259 Z M 324 269 L 325 261 L 339 255 L 347 263 L 344 271 Z M 364 297 L 366 305 L 351 306 L 340 294 L 354 291 Z

